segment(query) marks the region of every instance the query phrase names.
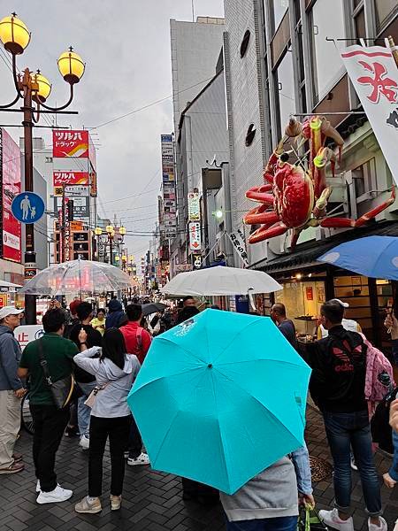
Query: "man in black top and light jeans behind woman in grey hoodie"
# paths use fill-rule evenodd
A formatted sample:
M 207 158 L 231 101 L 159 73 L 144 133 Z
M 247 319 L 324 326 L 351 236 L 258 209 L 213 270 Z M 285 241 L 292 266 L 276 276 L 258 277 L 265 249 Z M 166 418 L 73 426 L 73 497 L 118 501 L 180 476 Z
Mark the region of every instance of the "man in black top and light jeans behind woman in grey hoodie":
M 101 347 L 103 336 L 100 332 L 98 332 L 98 330 L 90 325 L 90 322 L 94 317 L 93 307 L 91 304 L 85 302 L 80 303 L 76 308 L 76 313 L 79 321 L 74 324 L 69 333 L 70 340 L 77 345 L 80 351 L 91 349 L 91 347 Z M 80 343 L 79 340 L 81 328 L 84 328 L 84 331 L 87 334 L 87 340 L 85 343 Z M 88 450 L 91 409 L 84 403 L 87 400 L 88 395 L 96 387 L 96 377 L 87 373 L 83 369 L 80 369 L 78 366 L 74 367 L 73 373 L 80 390 L 83 393 L 83 396 L 80 396 L 78 399 L 77 415 L 80 433 L 80 446 L 83 450 Z

